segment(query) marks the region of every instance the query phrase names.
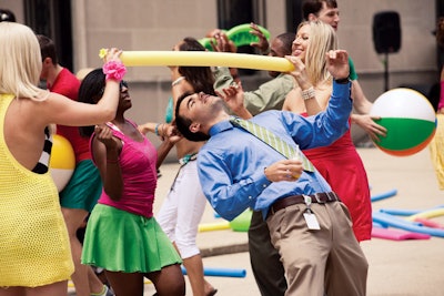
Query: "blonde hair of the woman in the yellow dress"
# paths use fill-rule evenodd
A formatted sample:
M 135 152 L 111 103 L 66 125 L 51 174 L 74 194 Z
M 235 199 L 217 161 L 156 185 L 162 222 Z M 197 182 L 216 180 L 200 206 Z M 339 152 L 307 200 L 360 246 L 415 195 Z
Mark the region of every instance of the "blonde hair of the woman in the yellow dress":
M 0 93 L 38 99 L 42 69 L 34 32 L 17 22 L 0 22 Z

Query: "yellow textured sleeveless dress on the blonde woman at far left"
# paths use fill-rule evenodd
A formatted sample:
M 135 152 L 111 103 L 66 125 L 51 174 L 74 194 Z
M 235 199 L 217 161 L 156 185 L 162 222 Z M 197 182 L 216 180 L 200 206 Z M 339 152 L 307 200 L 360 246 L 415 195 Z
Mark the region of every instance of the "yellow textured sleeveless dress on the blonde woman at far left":
M 0 94 L 0 288 L 37 287 L 69 279 L 74 267 L 50 173 L 24 169 L 4 142 L 12 99 Z

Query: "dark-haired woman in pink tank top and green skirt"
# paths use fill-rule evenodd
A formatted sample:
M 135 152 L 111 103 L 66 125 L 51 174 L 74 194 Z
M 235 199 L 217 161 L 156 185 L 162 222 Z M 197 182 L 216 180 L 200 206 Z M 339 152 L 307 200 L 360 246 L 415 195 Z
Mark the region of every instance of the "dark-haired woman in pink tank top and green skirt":
M 118 70 L 115 71 L 118 72 Z M 93 70 L 82 81 L 79 101 L 95 104 L 107 76 Z M 143 295 L 143 278 L 158 295 L 184 295 L 181 258 L 153 217 L 159 155 L 173 146 L 168 137 L 157 151 L 124 118 L 131 108 L 128 84 L 120 82 L 115 119 L 81 127 L 91 135 L 92 159 L 103 182 L 102 195 L 91 213 L 83 243 L 82 263 L 102 267 L 115 295 Z

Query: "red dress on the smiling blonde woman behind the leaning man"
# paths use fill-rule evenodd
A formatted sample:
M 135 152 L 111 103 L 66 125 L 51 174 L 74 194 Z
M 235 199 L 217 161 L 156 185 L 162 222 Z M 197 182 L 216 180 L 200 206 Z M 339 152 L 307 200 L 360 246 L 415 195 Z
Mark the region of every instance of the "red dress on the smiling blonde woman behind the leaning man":
M 373 222 L 369 180 L 350 130 L 330 146 L 303 152 L 349 207 L 357 241 L 370 239 Z

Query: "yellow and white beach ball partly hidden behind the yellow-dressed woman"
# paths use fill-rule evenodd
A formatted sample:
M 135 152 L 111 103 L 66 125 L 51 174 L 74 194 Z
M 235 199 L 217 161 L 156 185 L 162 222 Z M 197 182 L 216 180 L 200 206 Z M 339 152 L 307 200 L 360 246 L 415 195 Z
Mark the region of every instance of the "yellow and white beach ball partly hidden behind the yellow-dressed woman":
M 59 134 L 52 135 L 49 171 L 59 192 L 67 186 L 75 169 L 75 155 L 71 143 Z

